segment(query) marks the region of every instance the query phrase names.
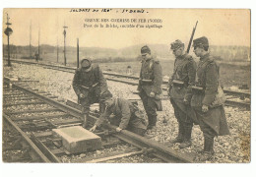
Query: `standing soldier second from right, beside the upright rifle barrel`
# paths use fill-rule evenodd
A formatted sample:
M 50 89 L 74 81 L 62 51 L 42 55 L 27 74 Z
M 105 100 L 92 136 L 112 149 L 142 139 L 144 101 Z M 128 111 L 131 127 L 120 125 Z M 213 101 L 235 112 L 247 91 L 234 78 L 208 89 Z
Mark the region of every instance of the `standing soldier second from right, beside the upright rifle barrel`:
M 191 87 L 195 83 L 196 63 L 192 56 L 184 51 L 184 43 L 175 40 L 170 44 L 175 55 L 173 74 L 169 79 L 170 102 L 178 122 L 178 136 L 171 144 L 180 143 L 179 148 L 191 146 L 193 127 L 192 114 L 188 113 L 192 97 Z

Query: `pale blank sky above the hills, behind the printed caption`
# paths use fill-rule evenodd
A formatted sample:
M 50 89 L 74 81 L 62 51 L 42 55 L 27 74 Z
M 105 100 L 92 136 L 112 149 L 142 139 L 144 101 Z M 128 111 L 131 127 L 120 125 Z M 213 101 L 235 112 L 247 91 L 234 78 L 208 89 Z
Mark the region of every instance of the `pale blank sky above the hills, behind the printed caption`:
M 179 38 L 188 43 L 191 31 L 198 21 L 195 38 L 207 36 L 210 45 L 245 45 L 250 46 L 250 11 L 249 10 L 199 10 L 199 9 L 145 9 L 144 13 L 122 13 L 123 9 L 110 12 L 70 12 L 71 9 L 5 9 L 10 16 L 14 30 L 10 43 L 15 45 L 30 44 L 30 24 L 32 23 L 32 45 L 37 45 L 40 27 L 40 43 L 63 45 L 63 26 L 67 29 L 67 45 L 76 46 L 77 38 L 82 47 L 122 48 L 136 44 L 166 44 Z M 98 9 L 100 11 L 101 9 Z M 147 13 L 148 12 L 148 13 Z M 107 29 L 84 28 L 84 24 L 96 25 L 116 23 L 86 23 L 88 19 L 160 19 L 162 23 L 150 25 L 162 26 L 161 29 Z M 131 23 L 118 23 L 128 25 Z M 132 23 L 147 25 L 148 23 Z M 3 25 L 3 29 L 6 25 Z M 3 42 L 7 39 L 4 35 Z

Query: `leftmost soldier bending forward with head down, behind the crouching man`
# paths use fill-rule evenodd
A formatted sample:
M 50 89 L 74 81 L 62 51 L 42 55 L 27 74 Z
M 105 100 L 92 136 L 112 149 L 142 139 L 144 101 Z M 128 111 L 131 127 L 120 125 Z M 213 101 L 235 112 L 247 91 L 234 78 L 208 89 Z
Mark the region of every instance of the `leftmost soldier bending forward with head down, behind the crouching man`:
M 73 89 L 78 95 L 79 103 L 83 107 L 83 127 L 86 128 L 91 104 L 98 102 L 99 113 L 102 113 L 104 111 L 104 97 L 112 96 L 112 94 L 107 89 L 106 80 L 99 66 L 92 64 L 90 59 L 83 59 L 81 61 L 81 68 L 78 68 L 75 72 Z

